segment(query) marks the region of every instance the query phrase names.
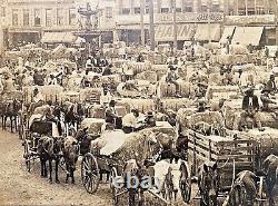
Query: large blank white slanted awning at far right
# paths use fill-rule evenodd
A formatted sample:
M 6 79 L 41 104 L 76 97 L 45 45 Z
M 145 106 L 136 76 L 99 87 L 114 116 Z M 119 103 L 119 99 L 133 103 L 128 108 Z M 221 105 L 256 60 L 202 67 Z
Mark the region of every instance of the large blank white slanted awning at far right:
M 264 27 L 237 27 L 231 43 L 259 46 L 262 31 Z

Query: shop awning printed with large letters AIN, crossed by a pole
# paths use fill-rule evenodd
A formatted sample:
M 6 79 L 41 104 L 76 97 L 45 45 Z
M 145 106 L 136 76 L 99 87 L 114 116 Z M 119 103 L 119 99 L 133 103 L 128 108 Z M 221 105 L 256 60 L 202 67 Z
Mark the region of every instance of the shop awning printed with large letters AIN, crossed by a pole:
M 178 24 L 177 39 L 191 40 L 195 35 L 195 24 Z M 156 41 L 173 41 L 173 26 L 159 24 L 156 27 Z

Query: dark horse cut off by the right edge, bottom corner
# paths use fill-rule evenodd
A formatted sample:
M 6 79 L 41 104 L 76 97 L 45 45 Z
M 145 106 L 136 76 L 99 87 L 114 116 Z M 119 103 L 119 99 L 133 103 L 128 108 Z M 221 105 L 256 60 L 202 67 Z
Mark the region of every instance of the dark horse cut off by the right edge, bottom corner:
M 278 180 L 278 157 L 269 155 L 262 163 L 264 171 L 266 173 L 267 197 L 269 198 L 269 206 L 275 206 L 274 188 Z

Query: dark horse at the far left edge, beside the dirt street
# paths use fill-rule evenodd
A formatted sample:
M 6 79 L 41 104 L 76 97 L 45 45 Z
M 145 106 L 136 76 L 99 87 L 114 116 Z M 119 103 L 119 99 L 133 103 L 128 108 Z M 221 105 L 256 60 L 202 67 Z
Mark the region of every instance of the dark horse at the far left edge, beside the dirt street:
M 20 109 L 22 108 L 22 104 L 17 100 L 13 99 L 12 101 L 8 101 L 7 104 L 2 105 L 2 128 L 6 129 L 7 126 L 7 119 L 10 119 L 10 124 L 11 124 L 11 133 L 13 131 L 13 125 L 14 125 L 14 129 L 18 130 L 18 115 Z

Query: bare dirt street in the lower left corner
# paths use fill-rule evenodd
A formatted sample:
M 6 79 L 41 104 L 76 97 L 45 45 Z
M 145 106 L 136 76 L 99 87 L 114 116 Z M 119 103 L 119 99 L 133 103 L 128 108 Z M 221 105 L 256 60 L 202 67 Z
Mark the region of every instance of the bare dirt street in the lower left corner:
M 0 131 L 0 205 L 111 205 L 108 185 L 101 185 L 96 195 L 89 195 L 80 182 L 78 170 L 76 185 L 50 184 L 40 177 L 39 163 L 28 173 L 22 157 L 23 147 L 17 135 Z

